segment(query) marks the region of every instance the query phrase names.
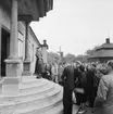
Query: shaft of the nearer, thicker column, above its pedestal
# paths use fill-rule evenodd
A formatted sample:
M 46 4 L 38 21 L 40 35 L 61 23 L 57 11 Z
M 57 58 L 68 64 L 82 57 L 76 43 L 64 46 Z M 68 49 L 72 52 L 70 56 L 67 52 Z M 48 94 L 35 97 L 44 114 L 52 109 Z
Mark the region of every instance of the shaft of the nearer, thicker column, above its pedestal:
M 18 58 L 18 42 L 17 42 L 17 0 L 12 0 L 11 10 L 11 39 L 10 39 L 10 58 Z

